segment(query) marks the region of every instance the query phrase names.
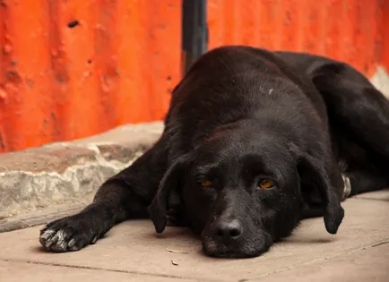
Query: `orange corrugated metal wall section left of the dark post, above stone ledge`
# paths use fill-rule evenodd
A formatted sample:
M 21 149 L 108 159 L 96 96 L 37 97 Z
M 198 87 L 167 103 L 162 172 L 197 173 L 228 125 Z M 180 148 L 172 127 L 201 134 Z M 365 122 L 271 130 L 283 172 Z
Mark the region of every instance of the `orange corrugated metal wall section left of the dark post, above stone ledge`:
M 3 0 L 0 11 L 0 151 L 163 117 L 180 1 Z

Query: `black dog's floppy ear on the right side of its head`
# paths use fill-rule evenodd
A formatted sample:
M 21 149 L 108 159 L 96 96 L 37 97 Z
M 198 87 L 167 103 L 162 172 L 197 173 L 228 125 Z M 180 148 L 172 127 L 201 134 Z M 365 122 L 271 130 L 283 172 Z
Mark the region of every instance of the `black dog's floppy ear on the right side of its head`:
M 328 170 L 321 159 L 315 158 L 305 152 L 298 152 L 298 165 L 314 180 L 319 190 L 324 206 L 324 224 L 328 233 L 336 234 L 341 220 L 344 217 L 344 209 L 341 208 L 335 187 L 331 184 Z

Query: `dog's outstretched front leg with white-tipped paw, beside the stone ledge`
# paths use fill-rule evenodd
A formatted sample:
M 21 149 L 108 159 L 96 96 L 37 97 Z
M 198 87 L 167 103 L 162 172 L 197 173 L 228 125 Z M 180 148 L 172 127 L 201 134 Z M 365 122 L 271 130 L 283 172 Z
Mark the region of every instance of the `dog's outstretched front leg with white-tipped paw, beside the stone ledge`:
M 166 170 L 167 155 L 166 142 L 160 139 L 132 166 L 102 184 L 88 207 L 45 226 L 40 244 L 52 252 L 78 251 L 127 218 L 146 218 Z

